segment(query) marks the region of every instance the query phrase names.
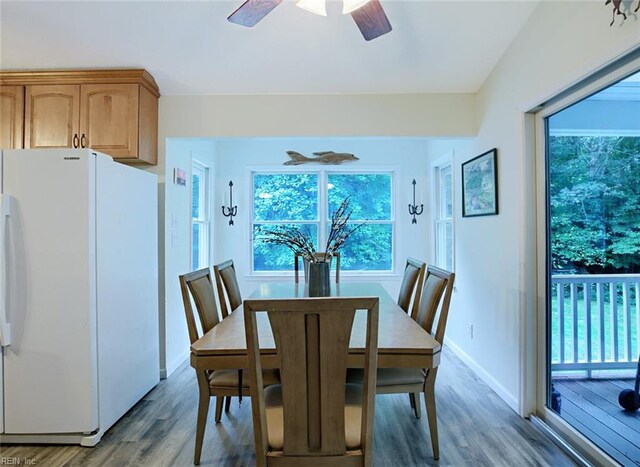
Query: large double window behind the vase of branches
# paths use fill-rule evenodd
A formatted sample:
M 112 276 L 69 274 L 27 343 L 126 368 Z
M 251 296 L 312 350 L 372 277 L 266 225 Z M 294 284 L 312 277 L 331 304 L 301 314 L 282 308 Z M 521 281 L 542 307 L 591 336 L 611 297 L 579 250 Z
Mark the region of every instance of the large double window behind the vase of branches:
M 350 221 L 366 221 L 341 251 L 342 271 L 393 270 L 393 176 L 390 172 L 253 174 L 253 271 L 291 271 L 293 254 L 284 246 L 260 241 L 265 229 L 297 225 L 324 251 L 331 213 L 347 196 Z

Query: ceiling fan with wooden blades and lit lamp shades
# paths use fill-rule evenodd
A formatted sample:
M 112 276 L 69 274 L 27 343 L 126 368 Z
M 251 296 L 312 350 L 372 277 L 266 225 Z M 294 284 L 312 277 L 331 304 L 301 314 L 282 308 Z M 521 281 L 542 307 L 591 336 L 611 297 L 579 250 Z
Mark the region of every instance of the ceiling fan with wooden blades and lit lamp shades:
M 227 18 L 246 27 L 255 26 L 283 0 L 246 0 Z M 325 0 L 300 0 L 297 6 L 326 16 Z M 351 14 L 365 40 L 370 41 L 391 31 L 391 23 L 379 0 L 344 0 L 343 13 Z

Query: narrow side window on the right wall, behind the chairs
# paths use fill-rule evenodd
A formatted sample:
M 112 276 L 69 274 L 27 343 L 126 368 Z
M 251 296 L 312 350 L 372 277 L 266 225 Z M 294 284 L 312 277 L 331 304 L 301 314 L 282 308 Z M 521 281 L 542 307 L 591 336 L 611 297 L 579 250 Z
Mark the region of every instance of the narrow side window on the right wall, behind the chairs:
M 451 163 L 435 168 L 436 265 L 453 271 L 453 177 Z

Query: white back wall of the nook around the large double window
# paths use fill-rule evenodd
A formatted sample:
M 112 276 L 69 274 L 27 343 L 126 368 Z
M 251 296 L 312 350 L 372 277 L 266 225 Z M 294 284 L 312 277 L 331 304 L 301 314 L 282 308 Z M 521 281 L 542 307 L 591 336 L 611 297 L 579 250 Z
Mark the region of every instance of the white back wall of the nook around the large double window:
M 417 182 L 416 197 L 422 194 L 428 198 L 427 187 L 428 161 L 426 139 L 424 138 L 237 138 L 222 139 L 217 143 L 216 201 L 216 248 L 215 261 L 221 262 L 233 258 L 239 275 L 243 296 L 248 296 L 257 286 L 257 281 L 265 277 L 251 277 L 250 258 L 250 206 L 251 206 L 251 170 L 278 170 L 289 160 L 286 151 L 295 150 L 311 155 L 314 151 L 333 150 L 349 152 L 360 158 L 359 161 L 344 163 L 340 166 L 322 166 L 306 164 L 301 170 L 367 170 L 384 169 L 395 171 L 394 188 L 396 204 L 396 263 L 394 274 L 363 275 L 357 280 L 374 278 L 383 283 L 395 296 L 399 290 L 404 262 L 408 255 L 416 258 L 429 257 L 431 229 L 425 215 L 418 217 L 417 224 L 411 224 L 408 213 L 408 199 L 412 190 L 411 181 Z M 234 203 L 238 205 L 238 217 L 235 225 L 229 226 L 220 213 L 223 195 L 227 193 L 229 180 L 234 182 Z M 428 207 L 427 207 L 428 209 Z M 293 263 L 292 263 L 293 264 Z M 348 273 L 341 275 L 342 280 L 350 280 Z M 277 280 L 278 276 L 271 279 Z M 280 276 L 282 280 L 282 276 Z

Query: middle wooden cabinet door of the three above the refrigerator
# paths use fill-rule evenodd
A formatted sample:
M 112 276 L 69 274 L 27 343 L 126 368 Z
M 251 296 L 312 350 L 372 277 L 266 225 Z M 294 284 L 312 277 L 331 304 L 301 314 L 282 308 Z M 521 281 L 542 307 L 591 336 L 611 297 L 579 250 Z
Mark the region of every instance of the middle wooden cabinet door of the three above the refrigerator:
M 27 86 L 24 147 L 79 147 L 80 86 Z

